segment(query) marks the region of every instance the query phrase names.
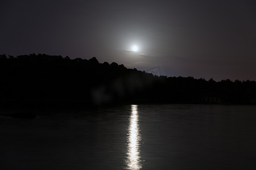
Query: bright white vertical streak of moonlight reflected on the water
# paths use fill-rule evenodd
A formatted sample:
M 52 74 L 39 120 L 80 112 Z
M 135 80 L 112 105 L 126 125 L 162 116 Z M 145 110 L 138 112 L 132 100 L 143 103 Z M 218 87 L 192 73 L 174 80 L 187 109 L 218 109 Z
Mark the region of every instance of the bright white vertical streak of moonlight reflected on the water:
M 141 156 L 139 153 L 139 141 L 141 141 L 141 137 L 139 134 L 138 117 L 137 105 L 131 105 L 130 124 L 127 133 L 127 158 L 125 161 L 126 169 L 130 170 L 142 168 Z

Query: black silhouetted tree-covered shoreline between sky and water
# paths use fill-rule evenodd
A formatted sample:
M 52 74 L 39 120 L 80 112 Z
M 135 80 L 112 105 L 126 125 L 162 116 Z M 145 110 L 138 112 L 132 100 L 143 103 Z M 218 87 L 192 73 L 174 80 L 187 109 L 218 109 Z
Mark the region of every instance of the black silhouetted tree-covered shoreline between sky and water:
M 255 104 L 256 82 L 156 76 L 113 62 L 46 54 L 0 55 L 1 104 Z

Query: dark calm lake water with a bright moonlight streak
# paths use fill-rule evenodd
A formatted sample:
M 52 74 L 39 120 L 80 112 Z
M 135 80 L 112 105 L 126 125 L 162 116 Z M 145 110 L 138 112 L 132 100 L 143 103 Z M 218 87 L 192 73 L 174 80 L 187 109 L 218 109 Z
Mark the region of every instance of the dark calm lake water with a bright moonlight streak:
M 0 116 L 0 169 L 256 168 L 252 105 L 29 112 L 38 117 Z

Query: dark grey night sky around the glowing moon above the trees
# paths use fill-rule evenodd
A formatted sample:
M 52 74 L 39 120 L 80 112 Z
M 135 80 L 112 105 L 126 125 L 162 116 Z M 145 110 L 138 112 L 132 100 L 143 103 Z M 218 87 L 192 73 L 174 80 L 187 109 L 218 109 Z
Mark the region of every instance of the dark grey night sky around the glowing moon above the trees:
M 0 54 L 96 57 L 138 70 L 160 66 L 167 76 L 256 80 L 255 0 L 2 0 L 0 20 Z

